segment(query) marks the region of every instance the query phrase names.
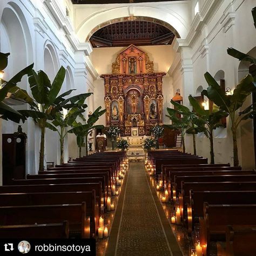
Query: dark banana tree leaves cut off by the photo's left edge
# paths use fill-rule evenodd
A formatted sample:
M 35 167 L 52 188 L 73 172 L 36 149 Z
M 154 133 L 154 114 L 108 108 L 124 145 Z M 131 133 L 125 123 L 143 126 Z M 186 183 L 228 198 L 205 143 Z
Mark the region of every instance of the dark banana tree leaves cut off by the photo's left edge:
M 8 56 L 10 53 L 2 53 L 0 52 L 0 71 L 3 70 L 8 65 Z M 5 120 L 12 120 L 13 122 L 19 123 L 20 120 L 26 119 L 22 116 L 21 113 L 12 109 L 9 105 L 5 104 L 3 101 L 7 94 L 10 92 L 12 88 L 17 86 L 18 82 L 21 82 L 23 76 L 28 75 L 33 68 L 33 64 L 27 66 L 25 69 L 19 71 L 14 77 L 12 77 L 9 81 L 5 81 L 2 79 L 2 88 L 0 89 L 0 114 L 1 118 Z

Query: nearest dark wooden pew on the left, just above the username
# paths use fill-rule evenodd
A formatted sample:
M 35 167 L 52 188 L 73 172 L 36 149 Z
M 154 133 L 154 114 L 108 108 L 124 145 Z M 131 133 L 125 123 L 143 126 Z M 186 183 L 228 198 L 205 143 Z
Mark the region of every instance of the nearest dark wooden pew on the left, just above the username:
M 55 224 L 0 226 L 0 239 L 69 238 L 69 221 Z

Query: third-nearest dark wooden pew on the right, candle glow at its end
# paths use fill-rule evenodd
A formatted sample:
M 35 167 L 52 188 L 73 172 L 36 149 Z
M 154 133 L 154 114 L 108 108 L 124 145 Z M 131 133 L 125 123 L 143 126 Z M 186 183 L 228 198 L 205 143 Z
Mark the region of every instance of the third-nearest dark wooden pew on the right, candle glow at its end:
M 193 231 L 199 217 L 204 215 L 204 202 L 208 204 L 256 204 L 256 191 L 190 191 L 190 203 L 187 203 L 187 230 Z M 186 217 L 186 216 L 185 216 Z

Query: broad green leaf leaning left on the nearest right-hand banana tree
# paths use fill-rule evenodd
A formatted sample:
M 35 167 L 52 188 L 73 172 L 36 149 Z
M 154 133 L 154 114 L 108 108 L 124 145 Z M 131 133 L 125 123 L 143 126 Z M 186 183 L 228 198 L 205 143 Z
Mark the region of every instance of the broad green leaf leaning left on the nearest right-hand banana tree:
M 211 99 L 217 106 L 220 107 L 221 110 L 230 112 L 228 109 L 228 106 L 230 106 L 230 97 L 225 94 L 210 73 L 205 73 L 205 79 L 209 86 L 207 88 L 207 92 L 203 90 L 202 94 Z

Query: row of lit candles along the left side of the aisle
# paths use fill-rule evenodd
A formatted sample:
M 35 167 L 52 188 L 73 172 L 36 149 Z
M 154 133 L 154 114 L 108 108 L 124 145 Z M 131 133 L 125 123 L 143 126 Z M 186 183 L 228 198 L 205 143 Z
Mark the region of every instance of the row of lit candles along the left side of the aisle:
M 113 185 L 111 187 L 111 192 L 113 196 L 118 196 L 119 195 L 119 191 L 116 190 L 116 186 L 120 186 L 122 185 L 122 179 L 124 179 L 125 176 L 125 172 L 126 170 L 128 170 L 129 167 L 129 161 L 128 159 L 123 160 L 123 162 L 120 165 L 120 171 L 117 174 L 116 179 L 114 179 Z M 114 211 L 114 203 L 111 203 L 111 198 L 108 197 L 107 198 L 107 211 Z M 107 226 L 105 225 L 104 227 L 104 218 L 102 218 L 102 216 L 100 216 L 99 218 L 99 228 L 98 228 L 98 238 L 102 239 L 102 238 L 107 238 L 109 237 L 109 230 L 107 228 Z

